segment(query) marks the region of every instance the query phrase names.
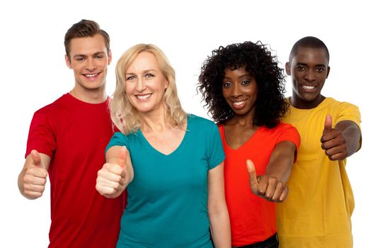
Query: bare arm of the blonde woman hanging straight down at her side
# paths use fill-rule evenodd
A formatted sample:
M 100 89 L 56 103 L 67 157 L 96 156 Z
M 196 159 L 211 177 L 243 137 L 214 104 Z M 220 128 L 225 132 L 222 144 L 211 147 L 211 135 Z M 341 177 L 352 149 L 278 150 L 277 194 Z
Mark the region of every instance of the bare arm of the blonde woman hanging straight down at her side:
M 231 247 L 229 212 L 224 198 L 224 162 L 209 170 L 207 210 L 212 239 L 217 248 Z

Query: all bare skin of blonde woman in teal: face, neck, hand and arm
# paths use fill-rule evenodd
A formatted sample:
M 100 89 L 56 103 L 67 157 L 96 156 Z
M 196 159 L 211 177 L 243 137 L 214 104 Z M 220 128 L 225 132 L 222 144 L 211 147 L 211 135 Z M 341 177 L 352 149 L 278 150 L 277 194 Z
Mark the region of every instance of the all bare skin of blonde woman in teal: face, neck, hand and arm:
M 140 52 L 127 67 L 125 91 L 139 112 L 141 131 L 146 140 L 163 154 L 175 151 L 185 135 L 185 128 L 171 125 L 163 103 L 168 81 L 151 52 Z M 107 163 L 98 171 L 96 189 L 108 198 L 125 191 L 134 179 L 130 152 L 114 146 L 106 153 Z M 231 247 L 229 214 L 224 199 L 223 162 L 208 172 L 207 210 L 215 247 Z

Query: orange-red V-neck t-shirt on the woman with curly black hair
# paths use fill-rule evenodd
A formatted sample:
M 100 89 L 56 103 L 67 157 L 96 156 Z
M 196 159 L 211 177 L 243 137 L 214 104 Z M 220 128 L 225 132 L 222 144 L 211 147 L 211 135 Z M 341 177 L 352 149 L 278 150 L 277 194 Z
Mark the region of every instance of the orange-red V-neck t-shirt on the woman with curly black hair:
M 270 155 L 282 141 L 299 147 L 301 138 L 292 125 L 280 123 L 275 128 L 262 126 L 241 147 L 234 150 L 226 144 L 223 125 L 219 125 L 224 147 L 224 190 L 231 222 L 231 243 L 239 247 L 260 242 L 277 232 L 275 203 L 251 192 L 246 159 L 251 159 L 258 175 L 265 174 Z

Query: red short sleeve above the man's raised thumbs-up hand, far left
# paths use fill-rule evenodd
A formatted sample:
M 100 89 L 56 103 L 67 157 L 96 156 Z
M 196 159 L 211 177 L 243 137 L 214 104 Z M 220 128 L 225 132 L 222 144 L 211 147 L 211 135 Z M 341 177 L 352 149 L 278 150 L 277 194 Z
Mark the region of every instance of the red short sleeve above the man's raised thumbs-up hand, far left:
M 37 150 L 49 157 L 53 156 L 54 150 L 56 150 L 55 120 L 53 116 L 50 117 L 45 111 L 35 112 L 30 123 L 25 157 L 32 150 Z

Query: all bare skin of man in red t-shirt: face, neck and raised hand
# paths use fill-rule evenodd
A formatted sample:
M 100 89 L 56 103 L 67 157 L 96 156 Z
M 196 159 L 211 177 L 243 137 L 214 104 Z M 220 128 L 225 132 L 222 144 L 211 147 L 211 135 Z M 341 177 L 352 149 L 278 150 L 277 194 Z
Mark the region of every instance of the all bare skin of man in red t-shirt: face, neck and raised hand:
M 111 54 L 105 47 L 102 35 L 74 38 L 69 44 L 67 67 L 73 70 L 75 86 L 70 94 L 87 103 L 102 103 L 106 100 L 105 75 L 111 62 Z M 47 181 L 51 157 L 33 150 L 25 158 L 18 175 L 18 188 L 25 198 L 42 196 Z

